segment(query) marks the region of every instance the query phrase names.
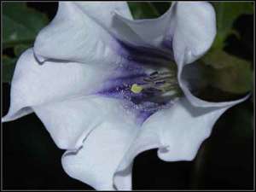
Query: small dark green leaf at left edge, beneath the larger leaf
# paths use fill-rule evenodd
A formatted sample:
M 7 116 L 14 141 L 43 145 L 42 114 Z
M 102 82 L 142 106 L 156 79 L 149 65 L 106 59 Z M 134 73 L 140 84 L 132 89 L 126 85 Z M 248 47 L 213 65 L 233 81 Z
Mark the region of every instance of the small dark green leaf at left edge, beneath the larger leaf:
M 10 83 L 13 78 L 13 73 L 15 71 L 16 59 L 10 58 L 7 55 L 3 55 L 1 67 L 3 69 L 3 83 Z

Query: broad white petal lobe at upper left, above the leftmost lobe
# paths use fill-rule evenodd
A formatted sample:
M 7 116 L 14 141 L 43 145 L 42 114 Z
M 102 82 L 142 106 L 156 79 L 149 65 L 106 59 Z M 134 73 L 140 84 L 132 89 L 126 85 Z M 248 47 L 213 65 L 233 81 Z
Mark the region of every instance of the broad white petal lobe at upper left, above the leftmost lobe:
M 115 44 L 108 31 L 85 15 L 81 6 L 61 2 L 54 20 L 39 32 L 34 51 L 39 61 L 57 59 L 108 66 L 120 61 L 113 56 Z

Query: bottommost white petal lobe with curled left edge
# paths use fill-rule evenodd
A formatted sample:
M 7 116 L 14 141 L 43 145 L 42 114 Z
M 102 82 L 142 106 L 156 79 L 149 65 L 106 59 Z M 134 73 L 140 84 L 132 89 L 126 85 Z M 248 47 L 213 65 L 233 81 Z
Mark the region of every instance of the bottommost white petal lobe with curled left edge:
M 122 113 L 119 111 L 119 113 Z M 62 156 L 62 166 L 70 177 L 89 184 L 97 190 L 112 190 L 113 174 L 138 127 L 126 123 L 128 116 L 108 118 L 90 132 L 78 151 L 67 151 Z M 131 186 L 131 175 L 126 178 Z

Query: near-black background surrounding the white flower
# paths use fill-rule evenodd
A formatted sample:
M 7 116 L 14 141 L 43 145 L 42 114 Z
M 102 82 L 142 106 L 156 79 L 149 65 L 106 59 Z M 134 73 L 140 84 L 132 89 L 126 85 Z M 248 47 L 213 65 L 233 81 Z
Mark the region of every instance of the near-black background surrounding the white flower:
M 165 4 L 165 3 L 162 3 Z M 51 20 L 57 3 L 28 3 Z M 164 13 L 166 7 L 159 4 Z M 227 52 L 253 62 L 253 15 L 241 15 Z M 245 44 L 251 44 L 248 49 Z M 11 55 L 12 50 L 5 50 Z M 9 84 L 3 85 L 3 113 L 9 108 Z M 4 123 L 3 189 L 92 189 L 67 176 L 61 167 L 64 150 L 55 146 L 32 113 Z M 212 135 L 193 161 L 164 162 L 156 150 L 139 154 L 133 166 L 133 189 L 253 189 L 253 98 L 230 108 L 218 119 Z

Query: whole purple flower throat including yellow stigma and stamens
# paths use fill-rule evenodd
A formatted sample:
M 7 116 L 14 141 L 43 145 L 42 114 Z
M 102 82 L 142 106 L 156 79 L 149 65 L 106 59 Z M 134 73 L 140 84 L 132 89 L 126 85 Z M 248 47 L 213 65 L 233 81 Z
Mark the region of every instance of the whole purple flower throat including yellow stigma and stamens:
M 141 123 L 182 96 L 171 54 L 158 49 L 120 44 L 122 61 L 97 94 L 124 101 Z M 172 53 L 172 50 L 170 50 Z

